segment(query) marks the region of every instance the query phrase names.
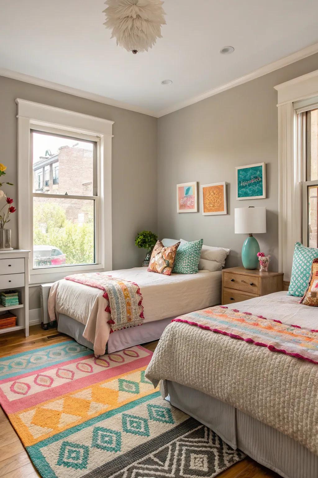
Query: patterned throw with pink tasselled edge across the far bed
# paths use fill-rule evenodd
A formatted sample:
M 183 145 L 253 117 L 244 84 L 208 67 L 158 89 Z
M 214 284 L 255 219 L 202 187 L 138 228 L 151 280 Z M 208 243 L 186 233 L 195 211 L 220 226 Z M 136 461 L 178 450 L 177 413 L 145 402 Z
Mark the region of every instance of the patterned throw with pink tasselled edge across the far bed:
M 108 301 L 105 311 L 110 314 L 107 323 L 111 332 L 144 323 L 143 297 L 135 282 L 117 279 L 103 272 L 69 275 L 65 280 L 103 291 L 103 297 Z

